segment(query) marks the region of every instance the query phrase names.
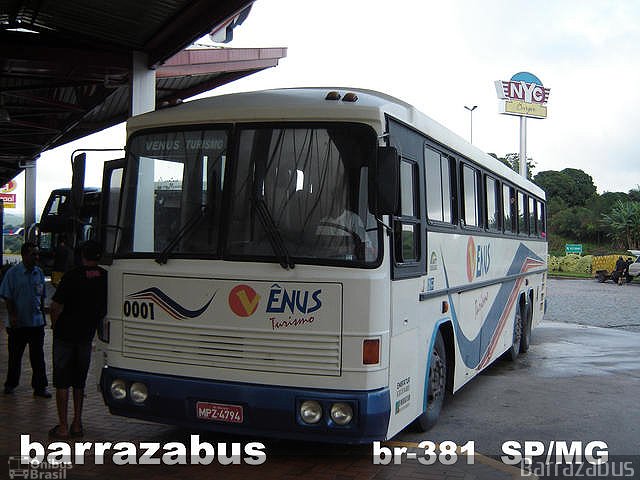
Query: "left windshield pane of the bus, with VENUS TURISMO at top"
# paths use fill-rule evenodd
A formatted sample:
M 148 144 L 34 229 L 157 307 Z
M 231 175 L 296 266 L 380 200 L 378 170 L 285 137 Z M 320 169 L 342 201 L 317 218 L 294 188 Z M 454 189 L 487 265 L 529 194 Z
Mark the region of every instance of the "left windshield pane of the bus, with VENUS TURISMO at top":
M 157 132 L 133 137 L 119 253 L 217 254 L 226 130 Z

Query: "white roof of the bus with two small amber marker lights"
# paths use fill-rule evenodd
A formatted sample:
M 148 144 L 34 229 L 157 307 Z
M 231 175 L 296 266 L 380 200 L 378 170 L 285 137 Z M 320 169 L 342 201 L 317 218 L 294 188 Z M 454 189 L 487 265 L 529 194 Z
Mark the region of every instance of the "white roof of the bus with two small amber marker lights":
M 327 100 L 329 92 L 338 92 L 341 100 Z M 347 102 L 346 93 L 357 95 Z M 286 114 L 284 113 L 286 112 Z M 345 121 L 366 122 L 384 128 L 388 114 L 425 133 L 480 166 L 483 166 L 539 198 L 544 191 L 491 155 L 418 111 L 412 105 L 373 90 L 345 87 L 284 88 L 233 93 L 184 102 L 178 106 L 149 112 L 127 121 L 127 136 L 148 128 L 204 123 L 262 121 Z

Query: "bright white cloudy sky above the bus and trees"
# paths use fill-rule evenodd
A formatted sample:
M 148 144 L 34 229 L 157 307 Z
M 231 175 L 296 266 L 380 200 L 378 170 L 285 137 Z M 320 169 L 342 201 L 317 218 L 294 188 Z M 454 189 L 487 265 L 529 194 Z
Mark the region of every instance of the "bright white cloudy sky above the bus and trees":
M 518 151 L 519 121 L 498 113 L 493 82 L 529 71 L 551 89 L 549 117 L 528 120 L 536 171 L 580 168 L 600 193 L 640 185 L 640 1 L 258 0 L 229 46 L 288 47 L 288 55 L 214 94 L 370 88 L 465 138 L 464 105 L 478 105 L 474 144 L 500 155 Z M 120 126 L 42 155 L 38 211 L 51 189 L 70 183 L 74 148 L 124 141 Z M 87 184 L 99 185 L 100 174 L 90 162 Z

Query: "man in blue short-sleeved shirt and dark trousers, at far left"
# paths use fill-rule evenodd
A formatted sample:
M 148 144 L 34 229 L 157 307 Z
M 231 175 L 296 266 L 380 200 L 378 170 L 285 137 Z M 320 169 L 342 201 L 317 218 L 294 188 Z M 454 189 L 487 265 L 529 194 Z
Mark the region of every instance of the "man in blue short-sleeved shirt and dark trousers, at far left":
M 33 243 L 25 242 L 20 254 L 22 262 L 7 271 L 0 285 L 0 297 L 4 298 L 9 314 L 6 320 L 9 365 L 4 393 L 13 393 L 20 382 L 22 354 L 28 344 L 33 394 L 51 398 L 44 364 L 44 274 L 36 266 L 40 253 Z

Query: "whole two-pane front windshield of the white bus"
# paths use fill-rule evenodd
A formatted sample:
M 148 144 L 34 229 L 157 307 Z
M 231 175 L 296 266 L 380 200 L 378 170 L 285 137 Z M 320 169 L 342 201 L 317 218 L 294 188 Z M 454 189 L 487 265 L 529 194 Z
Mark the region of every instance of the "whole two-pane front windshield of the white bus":
M 344 123 L 136 135 L 117 255 L 374 266 L 376 144 L 370 127 Z

